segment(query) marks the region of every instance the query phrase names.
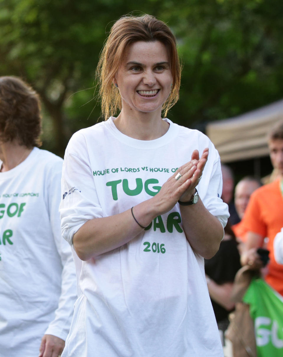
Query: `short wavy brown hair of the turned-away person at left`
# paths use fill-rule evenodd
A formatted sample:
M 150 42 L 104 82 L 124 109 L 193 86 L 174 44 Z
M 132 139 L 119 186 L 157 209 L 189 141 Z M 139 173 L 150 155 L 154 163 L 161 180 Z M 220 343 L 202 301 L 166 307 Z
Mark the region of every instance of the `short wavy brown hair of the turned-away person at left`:
M 40 147 L 41 105 L 37 92 L 15 76 L 0 77 L 0 140 Z

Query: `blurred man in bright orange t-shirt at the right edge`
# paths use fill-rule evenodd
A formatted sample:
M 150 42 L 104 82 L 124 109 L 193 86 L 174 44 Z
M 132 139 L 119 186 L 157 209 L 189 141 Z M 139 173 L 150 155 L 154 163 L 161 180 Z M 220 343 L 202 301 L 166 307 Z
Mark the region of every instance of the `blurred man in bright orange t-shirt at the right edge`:
M 283 226 L 283 123 L 275 127 L 268 140 L 269 154 L 274 169 L 278 169 L 280 177 L 267 185 L 259 187 L 251 195 L 243 217 L 243 226 L 247 230 L 246 243 L 241 256 L 242 265 L 254 268 L 262 266 L 258 247 L 270 251 L 266 282 L 283 295 L 283 265 L 274 259 L 273 241 Z M 264 246 L 264 238 L 268 238 Z

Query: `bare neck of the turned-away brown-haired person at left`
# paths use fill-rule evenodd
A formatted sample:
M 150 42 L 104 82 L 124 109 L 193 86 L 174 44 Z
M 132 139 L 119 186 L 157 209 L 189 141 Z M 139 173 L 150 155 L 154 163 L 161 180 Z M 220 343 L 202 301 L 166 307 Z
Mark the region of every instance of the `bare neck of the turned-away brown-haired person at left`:
M 29 156 L 32 148 L 19 145 L 15 141 L 0 143 L 0 159 L 2 165 L 0 172 L 14 169 Z

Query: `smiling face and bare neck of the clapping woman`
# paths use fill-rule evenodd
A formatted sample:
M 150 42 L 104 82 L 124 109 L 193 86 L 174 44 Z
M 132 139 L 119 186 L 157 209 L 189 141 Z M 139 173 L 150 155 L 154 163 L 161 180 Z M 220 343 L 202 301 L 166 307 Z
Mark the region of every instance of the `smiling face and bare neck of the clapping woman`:
M 159 41 L 138 41 L 128 46 L 114 81 L 117 83 L 122 102 L 122 110 L 115 119 L 117 129 L 125 135 L 135 137 L 137 127 L 139 126 L 139 133 L 144 127 L 144 114 L 151 113 L 146 115 L 146 131 L 148 132 L 151 126 L 150 136 L 144 135 L 143 140 L 152 140 L 160 136 L 161 127 L 156 125 L 157 123 L 162 125 L 161 130 L 165 134 L 168 123 L 161 120 L 161 110 L 170 95 L 172 83 L 165 45 Z

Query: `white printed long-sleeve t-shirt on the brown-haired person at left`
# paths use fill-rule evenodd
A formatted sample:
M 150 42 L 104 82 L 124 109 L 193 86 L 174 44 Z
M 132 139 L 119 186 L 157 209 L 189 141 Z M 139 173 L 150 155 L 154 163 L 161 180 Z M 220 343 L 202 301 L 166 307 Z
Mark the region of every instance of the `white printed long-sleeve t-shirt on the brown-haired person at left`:
M 77 291 L 58 211 L 62 162 L 34 148 L 0 172 L 1 357 L 38 356 L 45 334 L 69 332 Z

